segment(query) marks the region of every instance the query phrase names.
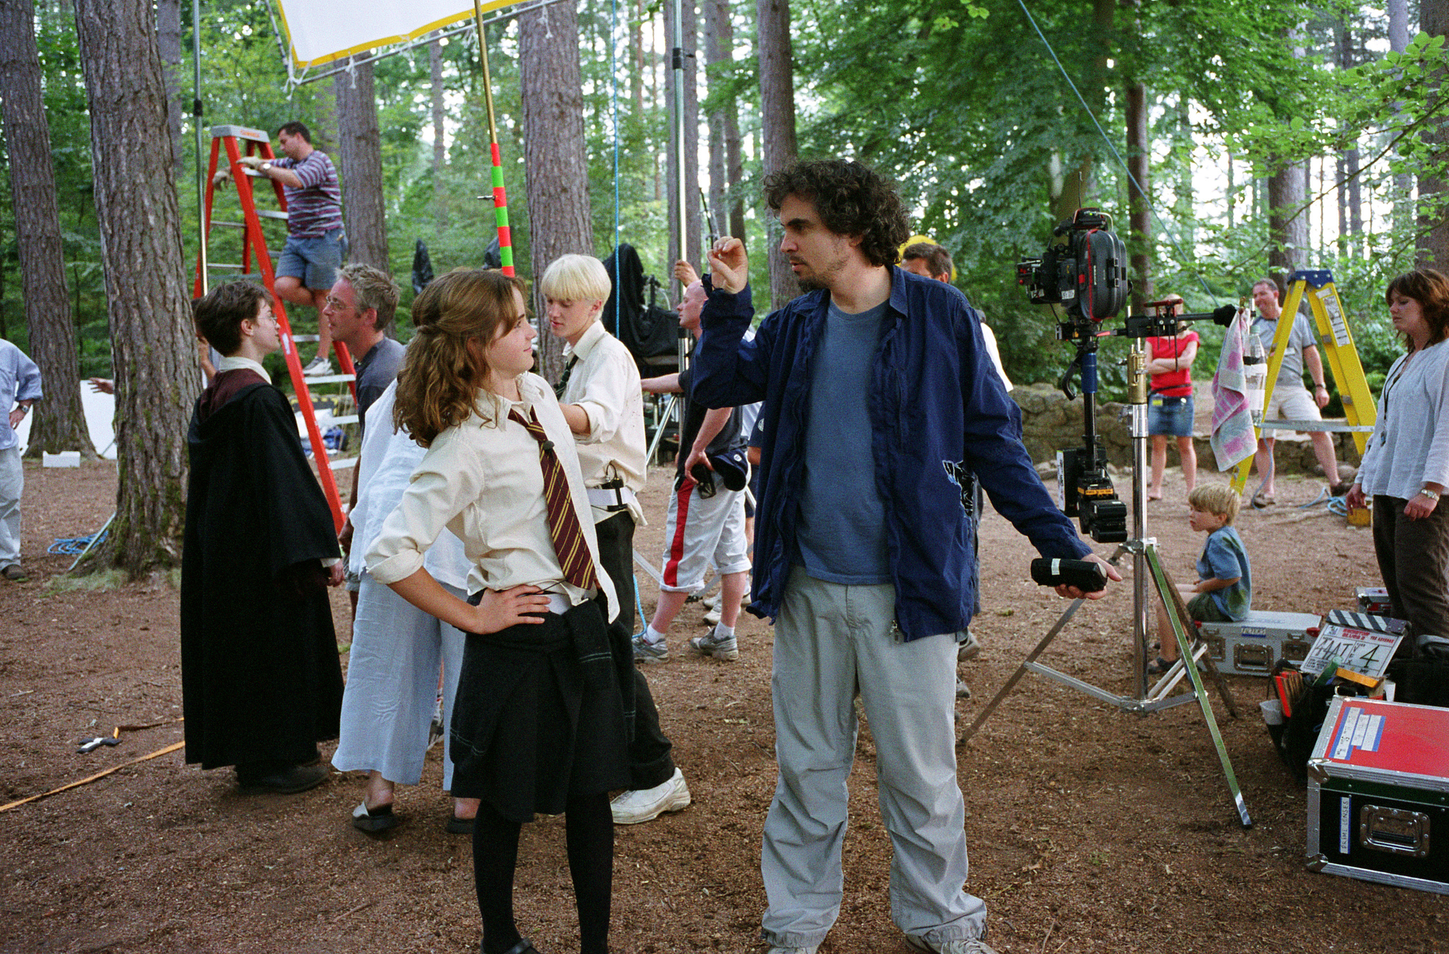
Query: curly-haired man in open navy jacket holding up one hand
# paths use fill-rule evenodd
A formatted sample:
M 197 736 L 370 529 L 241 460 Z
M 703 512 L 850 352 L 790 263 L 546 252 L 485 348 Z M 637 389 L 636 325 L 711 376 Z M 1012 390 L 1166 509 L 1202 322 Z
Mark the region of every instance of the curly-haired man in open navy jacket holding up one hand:
M 840 912 L 859 694 L 895 924 L 919 951 L 990 954 L 985 905 L 964 887 L 956 784 L 953 635 L 977 599 L 974 518 L 956 476 L 978 474 L 1042 555 L 1091 551 L 1022 447 L 977 312 L 895 267 L 910 231 L 891 184 L 830 159 L 768 177 L 765 194 L 807 294 L 743 341 L 749 262 L 738 239 L 720 239 L 694 365 L 697 402 L 764 402 L 749 609 L 775 619 L 780 781 L 761 854 L 762 937 L 772 954 L 811 954 Z

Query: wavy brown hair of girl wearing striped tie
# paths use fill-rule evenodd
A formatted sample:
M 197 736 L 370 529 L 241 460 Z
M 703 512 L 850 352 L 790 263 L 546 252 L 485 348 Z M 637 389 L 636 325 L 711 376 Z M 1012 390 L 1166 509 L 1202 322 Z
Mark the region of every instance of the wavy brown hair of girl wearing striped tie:
M 487 367 L 478 367 L 468 342 L 485 348 L 509 328 L 514 291 L 525 293 L 523 281 L 501 271 L 455 268 L 413 299 L 417 333 L 397 374 L 393 422 L 423 447 L 472 413 Z

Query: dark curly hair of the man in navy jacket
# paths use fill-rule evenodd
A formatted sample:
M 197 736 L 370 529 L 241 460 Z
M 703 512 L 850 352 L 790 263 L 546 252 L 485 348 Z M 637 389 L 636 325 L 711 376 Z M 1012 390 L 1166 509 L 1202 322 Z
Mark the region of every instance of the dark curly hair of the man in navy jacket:
M 859 235 L 861 254 L 872 265 L 894 265 L 901 242 L 910 238 L 895 186 L 853 159 L 796 162 L 765 177 L 771 209 L 780 212 L 791 196 L 813 204 L 836 235 Z

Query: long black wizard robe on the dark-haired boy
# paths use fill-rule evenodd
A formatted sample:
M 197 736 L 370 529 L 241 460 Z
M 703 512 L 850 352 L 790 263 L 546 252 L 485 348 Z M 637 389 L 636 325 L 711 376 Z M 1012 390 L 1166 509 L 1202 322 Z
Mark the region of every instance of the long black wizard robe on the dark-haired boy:
M 256 373 L 223 371 L 197 399 L 187 449 L 185 760 L 313 761 L 342 710 L 320 563 L 338 538 L 293 410 Z

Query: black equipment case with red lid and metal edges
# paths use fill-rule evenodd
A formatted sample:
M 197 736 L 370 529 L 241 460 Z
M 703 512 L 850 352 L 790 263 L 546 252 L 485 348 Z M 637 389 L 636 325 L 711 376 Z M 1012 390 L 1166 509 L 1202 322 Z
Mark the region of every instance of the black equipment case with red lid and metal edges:
M 1449 895 L 1449 709 L 1333 699 L 1308 760 L 1307 864 Z

